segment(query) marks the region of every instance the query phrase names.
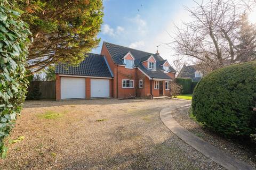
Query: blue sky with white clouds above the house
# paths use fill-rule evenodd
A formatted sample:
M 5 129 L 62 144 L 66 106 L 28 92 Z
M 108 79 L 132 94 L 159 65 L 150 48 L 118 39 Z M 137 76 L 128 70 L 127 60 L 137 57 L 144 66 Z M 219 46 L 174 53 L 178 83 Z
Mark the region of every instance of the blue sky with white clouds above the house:
M 184 6 L 195 6 L 191 0 L 103 0 L 104 18 L 98 38 L 101 42 L 92 53 L 100 54 L 103 41 L 156 53 L 170 62 L 174 53 L 169 45 L 174 24 L 189 21 Z M 256 21 L 256 13 L 249 15 Z

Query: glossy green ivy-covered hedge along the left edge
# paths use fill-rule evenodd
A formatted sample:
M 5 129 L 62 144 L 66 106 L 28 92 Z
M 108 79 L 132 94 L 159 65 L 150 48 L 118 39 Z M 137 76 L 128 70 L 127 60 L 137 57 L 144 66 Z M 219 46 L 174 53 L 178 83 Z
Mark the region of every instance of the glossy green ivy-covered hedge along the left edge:
M 30 34 L 20 13 L 7 1 L 0 1 L 0 155 L 6 157 L 4 138 L 10 133 L 14 120 L 25 99 L 27 80 L 25 64 Z

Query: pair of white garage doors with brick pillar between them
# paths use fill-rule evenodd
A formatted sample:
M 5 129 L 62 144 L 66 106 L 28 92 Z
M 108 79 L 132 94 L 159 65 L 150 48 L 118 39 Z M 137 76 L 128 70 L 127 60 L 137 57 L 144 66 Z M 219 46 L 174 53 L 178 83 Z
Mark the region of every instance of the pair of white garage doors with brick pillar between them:
M 59 77 L 60 99 L 110 97 L 111 79 Z

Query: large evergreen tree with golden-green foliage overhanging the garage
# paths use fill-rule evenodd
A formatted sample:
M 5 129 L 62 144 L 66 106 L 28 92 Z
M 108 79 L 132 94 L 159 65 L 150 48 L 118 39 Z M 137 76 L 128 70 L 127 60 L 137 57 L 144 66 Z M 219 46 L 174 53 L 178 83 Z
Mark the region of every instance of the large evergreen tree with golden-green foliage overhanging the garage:
M 102 0 L 17 0 L 30 25 L 27 69 L 41 71 L 54 63 L 76 65 L 99 44 Z

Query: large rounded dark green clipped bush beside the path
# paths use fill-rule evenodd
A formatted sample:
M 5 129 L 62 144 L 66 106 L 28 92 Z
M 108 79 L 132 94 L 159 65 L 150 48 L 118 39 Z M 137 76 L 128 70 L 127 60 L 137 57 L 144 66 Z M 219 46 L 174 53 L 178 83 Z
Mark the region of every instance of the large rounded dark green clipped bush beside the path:
M 197 121 L 226 137 L 256 133 L 256 62 L 235 64 L 206 75 L 196 86 L 192 111 Z

